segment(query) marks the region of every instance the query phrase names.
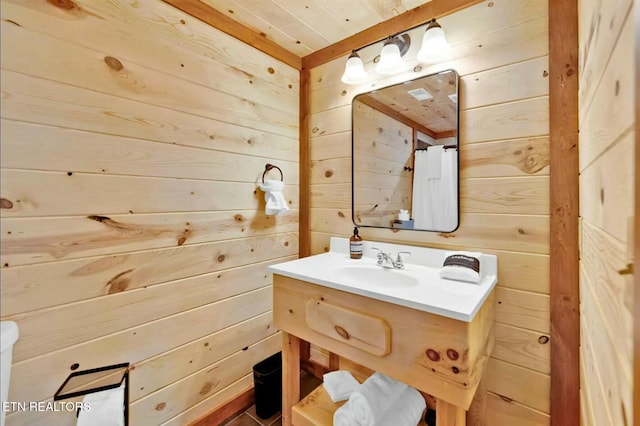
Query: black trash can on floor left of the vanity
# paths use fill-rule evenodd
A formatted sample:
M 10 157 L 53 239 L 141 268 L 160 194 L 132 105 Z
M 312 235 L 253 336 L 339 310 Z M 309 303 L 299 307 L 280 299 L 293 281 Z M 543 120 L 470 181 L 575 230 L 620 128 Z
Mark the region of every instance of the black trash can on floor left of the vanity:
M 253 366 L 256 414 L 261 419 L 282 410 L 282 352 Z

